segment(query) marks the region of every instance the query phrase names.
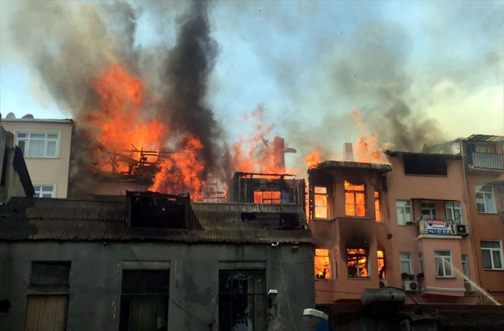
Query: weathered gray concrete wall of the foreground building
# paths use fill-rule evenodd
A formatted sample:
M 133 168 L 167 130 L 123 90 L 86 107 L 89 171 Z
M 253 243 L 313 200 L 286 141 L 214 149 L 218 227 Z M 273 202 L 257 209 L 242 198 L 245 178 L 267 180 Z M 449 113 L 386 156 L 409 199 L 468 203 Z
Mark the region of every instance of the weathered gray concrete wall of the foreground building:
M 304 308 L 314 308 L 313 253 L 309 245 L 179 244 L 104 242 L 0 242 L 0 329 L 23 330 L 32 261 L 71 261 L 67 329 L 119 328 L 123 261 L 170 265 L 169 330 L 218 330 L 219 262 L 264 261 L 268 289 L 278 296 L 270 330 L 309 330 Z M 192 313 L 188 314 L 186 311 Z M 213 327 L 210 324 L 213 323 Z

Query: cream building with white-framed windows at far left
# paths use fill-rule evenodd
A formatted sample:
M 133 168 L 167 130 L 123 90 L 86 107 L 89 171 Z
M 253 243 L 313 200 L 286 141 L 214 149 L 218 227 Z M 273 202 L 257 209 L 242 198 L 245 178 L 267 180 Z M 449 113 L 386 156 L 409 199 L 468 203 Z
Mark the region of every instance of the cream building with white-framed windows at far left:
M 23 151 L 36 197 L 66 198 L 70 165 L 72 120 L 15 118 L 9 113 L 2 125 L 14 134 Z

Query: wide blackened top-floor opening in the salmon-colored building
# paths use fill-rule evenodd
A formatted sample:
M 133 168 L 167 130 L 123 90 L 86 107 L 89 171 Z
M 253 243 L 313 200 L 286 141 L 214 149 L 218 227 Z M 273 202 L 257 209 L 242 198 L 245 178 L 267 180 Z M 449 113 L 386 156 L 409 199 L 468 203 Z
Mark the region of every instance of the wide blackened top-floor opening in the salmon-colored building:
M 432 154 L 404 154 L 404 173 L 407 175 L 447 176 L 446 158 Z

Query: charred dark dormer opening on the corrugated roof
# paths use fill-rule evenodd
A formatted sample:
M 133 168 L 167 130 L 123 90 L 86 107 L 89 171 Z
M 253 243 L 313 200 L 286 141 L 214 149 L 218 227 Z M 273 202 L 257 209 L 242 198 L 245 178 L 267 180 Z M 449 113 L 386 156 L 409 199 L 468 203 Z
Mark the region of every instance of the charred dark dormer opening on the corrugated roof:
M 188 195 L 128 192 L 131 226 L 186 228 Z

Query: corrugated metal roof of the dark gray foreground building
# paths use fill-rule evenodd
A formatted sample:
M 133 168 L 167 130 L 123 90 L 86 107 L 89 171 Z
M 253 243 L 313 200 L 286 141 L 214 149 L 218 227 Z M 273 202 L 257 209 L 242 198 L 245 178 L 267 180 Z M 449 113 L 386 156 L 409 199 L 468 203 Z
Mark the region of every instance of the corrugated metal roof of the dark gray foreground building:
M 295 205 L 192 203 L 203 229 L 131 227 L 125 222 L 125 202 L 12 198 L 0 207 L 0 240 L 178 241 L 229 243 L 314 244 L 308 229 L 263 229 L 258 222 L 242 222 L 241 212 L 299 213 Z M 237 217 L 236 217 L 237 216 Z

